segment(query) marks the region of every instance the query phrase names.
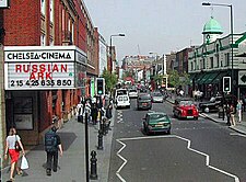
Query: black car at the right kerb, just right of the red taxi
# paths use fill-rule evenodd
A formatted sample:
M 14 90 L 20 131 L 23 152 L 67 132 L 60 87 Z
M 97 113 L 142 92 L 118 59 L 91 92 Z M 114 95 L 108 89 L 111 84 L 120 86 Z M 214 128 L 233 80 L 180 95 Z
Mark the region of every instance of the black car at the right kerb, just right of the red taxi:
M 219 107 L 222 105 L 223 98 L 222 96 L 212 96 L 207 102 L 199 103 L 200 112 L 218 112 Z

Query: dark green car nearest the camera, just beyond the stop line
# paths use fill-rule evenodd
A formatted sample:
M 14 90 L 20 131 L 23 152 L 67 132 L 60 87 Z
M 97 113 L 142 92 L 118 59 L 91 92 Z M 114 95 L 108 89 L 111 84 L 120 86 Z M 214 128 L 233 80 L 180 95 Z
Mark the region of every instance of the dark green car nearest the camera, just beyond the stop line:
M 143 118 L 143 130 L 147 135 L 151 133 L 171 134 L 171 120 L 166 113 L 149 112 Z

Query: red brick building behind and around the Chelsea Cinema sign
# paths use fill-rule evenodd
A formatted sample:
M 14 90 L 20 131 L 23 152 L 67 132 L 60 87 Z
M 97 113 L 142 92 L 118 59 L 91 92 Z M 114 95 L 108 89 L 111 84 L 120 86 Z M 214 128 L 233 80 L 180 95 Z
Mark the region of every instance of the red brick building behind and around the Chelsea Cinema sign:
M 92 25 L 86 7 L 81 0 L 26 0 L 25 3 L 11 1 L 10 9 L 0 10 L 0 30 L 3 46 L 40 46 L 47 49 L 49 46 L 73 45 L 87 61 L 87 65 L 85 62 L 78 68 L 78 77 L 83 87 L 4 91 L 3 135 L 7 135 L 9 127 L 16 126 L 14 104 L 32 101 L 32 127 L 17 129 L 25 145 L 37 145 L 42 133 L 50 125 L 55 115 L 61 123 L 74 115 L 80 96 L 89 92 L 86 73 L 89 77 L 98 76 L 98 32 Z M 30 99 L 26 101 L 26 98 Z

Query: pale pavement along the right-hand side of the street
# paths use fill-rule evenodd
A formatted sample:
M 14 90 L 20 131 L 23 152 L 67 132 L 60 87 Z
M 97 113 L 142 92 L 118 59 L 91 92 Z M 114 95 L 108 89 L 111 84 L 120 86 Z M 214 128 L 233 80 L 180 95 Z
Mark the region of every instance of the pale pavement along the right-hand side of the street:
M 174 100 L 175 96 L 169 96 L 166 99 L 167 102 L 174 104 Z M 218 113 L 200 113 L 199 116 L 204 117 L 204 118 L 209 118 L 215 123 L 227 123 L 227 118 L 226 116 L 223 118 L 219 118 L 219 114 Z M 236 125 L 235 126 L 227 126 L 229 128 L 239 133 L 239 134 L 244 134 L 246 135 L 246 112 L 242 113 L 242 122 L 238 123 L 237 122 L 237 116 L 235 115 L 235 121 L 236 121 Z

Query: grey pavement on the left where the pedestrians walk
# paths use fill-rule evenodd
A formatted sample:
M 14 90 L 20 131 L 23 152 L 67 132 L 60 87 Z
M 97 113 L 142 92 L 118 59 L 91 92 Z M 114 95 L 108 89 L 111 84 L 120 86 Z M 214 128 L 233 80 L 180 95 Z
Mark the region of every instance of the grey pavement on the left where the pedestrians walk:
M 114 132 L 114 114 L 108 134 L 103 137 L 103 150 L 97 150 L 98 146 L 98 125 L 89 124 L 89 152 L 96 151 L 97 158 L 97 180 L 108 181 L 110 148 Z M 38 145 L 26 152 L 30 169 L 24 170 L 24 174 L 15 175 L 17 182 L 85 182 L 85 125 L 79 123 L 74 116 L 63 127 L 58 130 L 63 146 L 63 156 L 59 156 L 58 171 L 52 172 L 51 177 L 46 175 L 46 152 L 44 145 Z M 89 164 L 91 171 L 91 162 Z M 9 180 L 10 167 L 2 170 L 2 181 Z M 90 172 L 91 173 L 91 172 Z

